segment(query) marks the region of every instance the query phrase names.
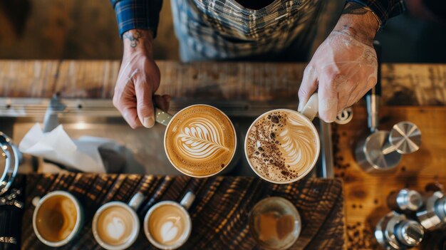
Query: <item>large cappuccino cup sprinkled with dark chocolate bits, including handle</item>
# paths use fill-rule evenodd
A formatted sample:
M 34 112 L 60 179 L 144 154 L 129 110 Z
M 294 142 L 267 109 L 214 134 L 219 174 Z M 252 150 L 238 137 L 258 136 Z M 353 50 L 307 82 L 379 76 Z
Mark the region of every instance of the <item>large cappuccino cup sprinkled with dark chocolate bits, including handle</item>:
M 252 170 L 268 182 L 286 184 L 308 175 L 316 165 L 321 145 L 311 121 L 318 111 L 313 94 L 301 113 L 271 110 L 248 129 L 244 152 Z

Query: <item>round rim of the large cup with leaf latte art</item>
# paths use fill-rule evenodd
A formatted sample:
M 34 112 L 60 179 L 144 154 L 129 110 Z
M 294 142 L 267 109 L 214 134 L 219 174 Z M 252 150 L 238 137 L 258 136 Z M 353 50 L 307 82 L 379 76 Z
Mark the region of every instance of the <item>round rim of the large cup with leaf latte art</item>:
M 229 166 L 229 164 L 232 162 L 232 160 L 234 160 L 234 155 L 235 155 L 235 152 L 237 151 L 237 133 L 236 133 L 236 131 L 235 131 L 234 123 L 232 123 L 232 120 L 229 119 L 229 117 L 228 117 L 222 110 L 219 110 L 219 108 L 215 108 L 214 106 L 212 106 L 212 105 L 207 105 L 207 104 L 194 104 L 194 105 L 187 106 L 186 108 L 182 108 L 182 110 L 178 111 L 178 112 L 172 117 L 172 119 L 170 119 L 169 124 L 167 124 L 167 126 L 166 126 L 166 131 L 167 131 L 167 129 L 170 127 L 170 125 L 172 124 L 172 120 L 174 120 L 174 119 L 177 117 L 177 115 L 179 115 L 180 113 L 182 113 L 183 110 L 186 110 L 186 109 L 188 109 L 188 108 L 192 108 L 192 107 L 195 107 L 195 106 L 207 106 L 207 107 L 209 107 L 209 108 L 214 108 L 215 110 L 218 110 L 219 113 L 222 113 L 222 115 L 224 115 L 224 117 L 227 118 L 227 120 L 229 120 L 229 124 L 231 124 L 231 127 L 232 127 L 232 132 L 234 132 L 234 151 L 232 152 L 231 159 L 229 160 L 228 164 L 227 164 L 226 166 L 222 167 L 218 172 L 214 172 L 213 174 L 209 174 L 209 175 L 190 175 L 190 174 L 188 174 L 188 173 L 186 173 L 186 172 L 180 170 L 180 168 L 177 167 L 177 166 L 172 162 L 172 160 L 170 159 L 170 155 L 169 155 L 169 153 L 167 152 L 167 147 L 166 147 L 167 132 L 164 133 L 164 142 L 163 142 L 163 145 L 164 145 L 164 151 L 165 151 L 165 154 L 166 154 L 167 159 L 169 160 L 170 164 L 171 164 L 173 167 L 175 167 L 176 170 L 180 171 L 182 174 L 187 175 L 187 176 L 189 176 L 189 177 L 194 177 L 194 178 L 206 178 L 206 177 L 212 177 L 212 176 L 214 176 L 214 175 L 219 174 L 219 172 L 222 172 L 223 170 L 225 170 L 225 169 L 227 168 L 227 166 Z

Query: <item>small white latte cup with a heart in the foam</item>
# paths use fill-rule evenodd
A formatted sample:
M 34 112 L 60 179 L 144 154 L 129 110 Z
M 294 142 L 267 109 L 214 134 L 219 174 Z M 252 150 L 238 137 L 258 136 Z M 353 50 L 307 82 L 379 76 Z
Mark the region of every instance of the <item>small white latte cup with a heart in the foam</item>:
M 192 220 L 187 212 L 195 194 L 187 192 L 180 203 L 158 202 L 144 218 L 144 232 L 150 243 L 158 249 L 177 249 L 189 239 Z

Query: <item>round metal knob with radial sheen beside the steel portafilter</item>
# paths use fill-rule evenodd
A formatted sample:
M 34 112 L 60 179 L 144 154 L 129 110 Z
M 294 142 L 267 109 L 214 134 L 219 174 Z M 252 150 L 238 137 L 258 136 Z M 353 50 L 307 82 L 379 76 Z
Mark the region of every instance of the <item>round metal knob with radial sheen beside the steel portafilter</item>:
M 420 149 L 421 131 L 413 123 L 397 123 L 390 130 L 389 142 L 400 154 L 410 154 Z

